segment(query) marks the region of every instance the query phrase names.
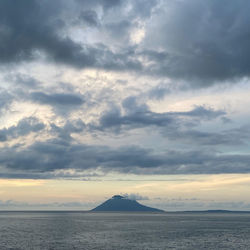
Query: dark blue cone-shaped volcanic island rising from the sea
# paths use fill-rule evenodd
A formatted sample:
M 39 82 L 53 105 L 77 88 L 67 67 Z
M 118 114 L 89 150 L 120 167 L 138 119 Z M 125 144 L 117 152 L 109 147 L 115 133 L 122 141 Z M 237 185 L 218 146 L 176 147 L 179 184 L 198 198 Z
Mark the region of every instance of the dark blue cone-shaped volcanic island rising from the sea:
M 94 212 L 164 212 L 163 210 L 147 207 L 135 200 L 121 195 L 114 195 L 111 199 L 92 209 Z

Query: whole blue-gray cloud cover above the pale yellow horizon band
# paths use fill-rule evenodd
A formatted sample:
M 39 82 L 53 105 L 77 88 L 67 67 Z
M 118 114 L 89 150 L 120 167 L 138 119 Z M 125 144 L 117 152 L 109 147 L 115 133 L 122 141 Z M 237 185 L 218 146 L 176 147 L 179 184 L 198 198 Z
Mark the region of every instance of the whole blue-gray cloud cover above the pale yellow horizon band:
M 241 152 L 242 148 L 238 147 L 248 144 L 249 129 L 240 125 L 241 118 L 235 121 L 236 125 L 229 124 L 224 110 L 209 106 L 160 113 L 142 101 L 151 98 L 151 104 L 175 91 L 181 94 L 189 89 L 191 94 L 192 86 L 249 77 L 248 6 L 246 0 L 1 1 L 0 63 L 9 78 L 3 78 L 7 84 L 0 90 L 0 114 L 4 115 L 3 119 L 26 116 L 27 104 L 32 102 L 36 103 L 35 107 L 49 105 L 54 111 L 53 118 L 58 121 L 64 118 L 65 122 L 58 125 L 39 113 L 42 121 L 30 117 L 2 128 L 2 142 L 42 132 L 45 128 L 44 135 L 48 137 L 37 137 L 29 145 L 3 146 L 0 176 L 57 178 L 57 170 L 69 168 L 76 172 L 100 168 L 104 173 L 135 174 L 249 172 L 249 155 L 231 153 Z M 134 43 L 133 35 L 141 35 L 142 40 Z M 21 62 L 41 59 L 30 76 L 23 73 L 30 70 L 27 69 L 30 65 Z M 53 67 L 48 69 L 45 60 L 56 66 L 66 65 L 65 75 L 63 70 L 59 75 Z M 67 71 L 69 66 L 99 71 L 93 78 L 88 72 L 85 75 L 84 71 L 74 71 L 77 74 L 72 78 L 74 84 L 66 86 L 59 82 L 70 81 L 73 71 Z M 51 71 L 39 78 L 47 73 L 44 69 Z M 112 81 L 116 81 L 117 75 L 104 76 L 103 69 L 126 74 L 119 74 L 115 84 Z M 136 74 L 126 77 L 132 73 Z M 137 76 L 142 77 L 131 83 L 130 79 L 136 81 Z M 42 79 L 50 77 L 53 79 L 49 89 Z M 121 84 L 125 82 L 126 86 Z M 143 90 L 138 97 L 121 100 Z M 22 105 L 18 106 L 19 102 L 25 105 L 24 110 Z M 108 109 L 106 105 L 110 105 Z M 216 105 L 230 104 L 223 105 L 222 100 Z M 238 104 L 232 105 L 234 109 Z M 78 119 L 80 112 L 82 117 Z M 228 129 L 217 130 L 219 125 Z M 116 147 L 129 144 L 132 137 L 124 139 L 127 131 L 129 136 L 140 137 L 133 143 L 145 148 Z M 81 135 L 79 139 L 77 134 Z M 53 139 L 46 141 L 46 138 Z M 86 138 L 93 145 L 80 143 Z M 107 145 L 98 145 L 99 140 L 105 140 L 103 143 Z M 155 147 L 155 151 L 145 145 Z

